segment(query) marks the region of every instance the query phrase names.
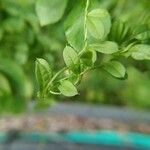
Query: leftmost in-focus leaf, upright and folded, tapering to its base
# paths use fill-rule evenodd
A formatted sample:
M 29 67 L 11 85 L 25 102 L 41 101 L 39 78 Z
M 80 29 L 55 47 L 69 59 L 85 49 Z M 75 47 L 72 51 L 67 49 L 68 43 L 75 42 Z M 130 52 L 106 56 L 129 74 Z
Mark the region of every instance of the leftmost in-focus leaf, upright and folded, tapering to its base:
M 38 58 L 35 63 L 35 74 L 39 85 L 40 95 L 42 94 L 46 84 L 52 77 L 52 71 L 48 62 L 42 58 Z

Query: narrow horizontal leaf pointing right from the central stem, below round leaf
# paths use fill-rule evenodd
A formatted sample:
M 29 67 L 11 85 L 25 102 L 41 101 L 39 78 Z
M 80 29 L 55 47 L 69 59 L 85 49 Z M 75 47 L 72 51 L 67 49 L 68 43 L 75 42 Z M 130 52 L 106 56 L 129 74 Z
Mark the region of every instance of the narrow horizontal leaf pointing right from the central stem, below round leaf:
M 91 44 L 90 48 L 104 54 L 113 54 L 119 50 L 117 43 L 111 41 Z

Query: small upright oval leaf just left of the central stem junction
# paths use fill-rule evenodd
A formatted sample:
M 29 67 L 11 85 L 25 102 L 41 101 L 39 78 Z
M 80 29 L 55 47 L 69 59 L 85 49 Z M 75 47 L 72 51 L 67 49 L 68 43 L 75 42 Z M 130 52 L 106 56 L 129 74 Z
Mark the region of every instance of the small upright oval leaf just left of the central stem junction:
M 63 58 L 67 67 L 76 70 L 79 66 L 79 57 L 76 51 L 70 46 L 66 46 L 63 51 Z

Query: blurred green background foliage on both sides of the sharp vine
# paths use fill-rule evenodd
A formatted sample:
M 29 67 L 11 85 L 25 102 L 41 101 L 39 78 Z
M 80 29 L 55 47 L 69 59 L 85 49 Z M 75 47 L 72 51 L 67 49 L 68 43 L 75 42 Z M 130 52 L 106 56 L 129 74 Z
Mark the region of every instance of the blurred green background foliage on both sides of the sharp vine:
M 67 16 L 73 9 L 80 9 L 78 3 L 84 3 L 84 0 L 68 1 L 61 19 L 44 27 L 40 26 L 36 14 L 36 2 L 37 0 L 0 0 L 1 112 L 24 111 L 29 100 L 36 99 L 36 57 L 45 58 L 54 70 L 63 65 L 62 50 L 66 43 L 64 26 L 66 28 L 69 19 Z M 94 8 L 108 9 L 113 19 L 119 18 L 126 22 L 135 32 L 143 31 L 137 39 L 150 44 L 150 32 L 144 33 L 150 31 L 149 0 L 91 0 L 91 3 Z M 72 16 L 75 19 L 73 14 Z M 139 22 L 142 22 L 143 27 L 137 29 L 135 25 Z M 125 24 L 119 24 L 119 27 L 123 28 Z M 124 38 L 130 37 L 113 37 L 113 40 L 121 43 Z M 129 78 L 125 81 L 118 81 L 99 71 L 87 74 L 80 85 L 80 95 L 71 100 L 150 108 L 150 63 L 129 59 L 126 66 L 128 64 L 133 65 L 128 68 Z M 52 104 L 54 100 L 65 99 L 53 96 L 47 101 L 37 102 L 37 107 Z

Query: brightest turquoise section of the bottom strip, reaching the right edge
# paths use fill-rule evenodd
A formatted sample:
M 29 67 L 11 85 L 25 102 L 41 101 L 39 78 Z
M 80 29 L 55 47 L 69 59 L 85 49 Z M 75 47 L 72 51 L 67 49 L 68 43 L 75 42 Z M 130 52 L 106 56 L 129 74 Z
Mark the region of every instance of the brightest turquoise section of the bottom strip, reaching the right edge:
M 96 132 L 68 132 L 64 135 L 66 140 L 85 144 L 127 145 L 133 147 L 146 147 L 150 149 L 150 135 L 140 133 L 122 133 L 116 131 Z

